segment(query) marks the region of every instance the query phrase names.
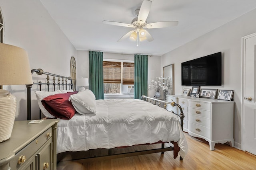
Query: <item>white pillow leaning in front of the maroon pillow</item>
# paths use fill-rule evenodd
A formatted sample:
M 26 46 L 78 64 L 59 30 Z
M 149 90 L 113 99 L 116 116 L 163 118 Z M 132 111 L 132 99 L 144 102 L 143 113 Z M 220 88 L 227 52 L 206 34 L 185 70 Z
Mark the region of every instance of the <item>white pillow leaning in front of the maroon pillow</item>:
M 80 91 L 77 94 L 72 94 L 69 97 L 72 105 L 76 111 L 80 114 L 95 113 L 96 112 L 96 100 L 91 90 Z

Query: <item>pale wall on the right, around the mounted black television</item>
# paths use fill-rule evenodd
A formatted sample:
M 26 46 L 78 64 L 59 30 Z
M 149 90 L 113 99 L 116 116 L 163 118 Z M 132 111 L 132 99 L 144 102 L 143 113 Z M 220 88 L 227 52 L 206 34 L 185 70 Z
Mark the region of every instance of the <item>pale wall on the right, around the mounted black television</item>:
M 234 90 L 234 141 L 238 148 L 241 147 L 242 37 L 256 32 L 255 16 L 253 10 L 161 57 L 161 67 L 174 63 L 175 94 L 180 94 L 181 63 L 222 52 L 222 86 L 201 88 Z

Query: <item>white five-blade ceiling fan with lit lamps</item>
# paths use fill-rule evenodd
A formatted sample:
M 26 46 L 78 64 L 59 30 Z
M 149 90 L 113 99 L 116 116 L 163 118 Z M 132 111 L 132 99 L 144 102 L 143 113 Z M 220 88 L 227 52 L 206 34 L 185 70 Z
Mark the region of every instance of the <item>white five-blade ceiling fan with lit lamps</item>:
M 135 28 L 132 31 L 129 31 L 124 36 L 122 36 L 118 41 L 122 41 L 130 37 L 130 39 L 136 41 L 137 46 L 140 44 L 140 41 L 148 40 L 152 41 L 153 37 L 150 33 L 144 29 L 152 29 L 152 28 L 163 28 L 163 27 L 170 27 L 178 25 L 178 21 L 160 21 L 154 23 L 147 23 L 146 20 L 148 18 L 148 14 L 151 8 L 152 1 L 150 0 L 143 0 L 140 9 L 135 10 L 136 18 L 132 20 L 132 23 L 122 23 L 122 22 L 115 22 L 115 21 L 103 21 L 103 23 L 110 24 L 110 25 L 118 25 L 123 27 L 131 27 Z

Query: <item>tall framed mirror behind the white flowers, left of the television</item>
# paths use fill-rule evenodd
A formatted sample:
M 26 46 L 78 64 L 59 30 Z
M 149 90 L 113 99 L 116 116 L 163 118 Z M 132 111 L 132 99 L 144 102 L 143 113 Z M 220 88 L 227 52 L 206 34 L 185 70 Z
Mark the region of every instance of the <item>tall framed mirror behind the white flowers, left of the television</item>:
M 174 95 L 174 64 L 170 64 L 168 66 L 163 67 L 163 77 L 170 79 L 164 80 L 165 83 L 166 81 L 170 81 L 170 88 L 168 90 L 164 90 L 164 99 L 166 99 L 166 95 Z

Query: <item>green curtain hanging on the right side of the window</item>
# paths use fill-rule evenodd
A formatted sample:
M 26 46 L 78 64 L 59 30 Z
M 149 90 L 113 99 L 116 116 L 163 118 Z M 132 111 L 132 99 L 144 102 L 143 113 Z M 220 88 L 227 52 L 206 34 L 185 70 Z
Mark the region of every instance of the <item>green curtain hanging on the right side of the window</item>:
M 148 96 L 148 56 L 134 55 L 134 99 Z

